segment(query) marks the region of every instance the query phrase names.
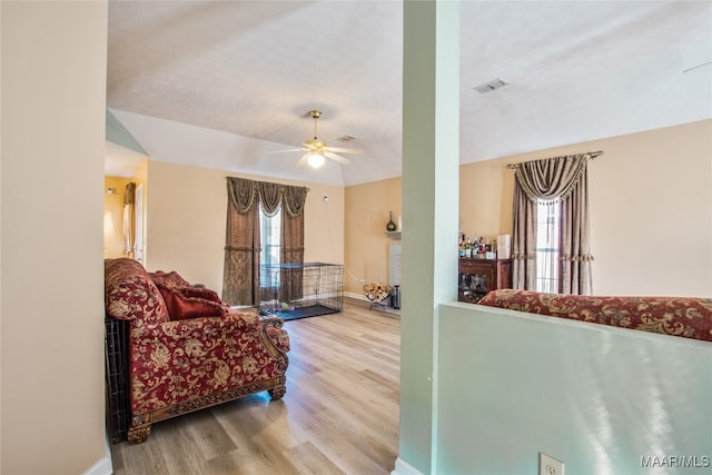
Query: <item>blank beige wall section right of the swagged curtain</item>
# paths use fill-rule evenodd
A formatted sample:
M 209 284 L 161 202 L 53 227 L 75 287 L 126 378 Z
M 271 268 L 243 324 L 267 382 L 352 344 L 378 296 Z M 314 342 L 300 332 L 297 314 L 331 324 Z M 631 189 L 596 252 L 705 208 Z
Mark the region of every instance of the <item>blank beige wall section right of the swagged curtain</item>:
M 712 120 L 590 148 L 594 289 L 712 296 Z

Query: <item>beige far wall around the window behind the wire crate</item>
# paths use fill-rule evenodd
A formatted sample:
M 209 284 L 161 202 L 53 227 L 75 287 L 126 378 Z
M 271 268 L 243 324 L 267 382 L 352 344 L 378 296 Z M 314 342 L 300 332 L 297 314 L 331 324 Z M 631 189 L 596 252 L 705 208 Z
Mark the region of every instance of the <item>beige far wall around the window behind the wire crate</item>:
M 178 270 L 189 281 L 221 293 L 228 175 L 222 170 L 148 161 L 146 267 L 149 270 Z M 305 261 L 344 263 L 343 187 L 241 177 L 308 186 Z

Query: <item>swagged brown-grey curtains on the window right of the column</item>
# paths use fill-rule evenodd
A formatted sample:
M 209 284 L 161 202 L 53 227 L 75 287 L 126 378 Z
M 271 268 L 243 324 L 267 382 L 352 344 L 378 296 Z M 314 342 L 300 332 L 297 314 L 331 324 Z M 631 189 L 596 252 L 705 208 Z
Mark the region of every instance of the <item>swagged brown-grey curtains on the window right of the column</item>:
M 590 155 L 534 160 L 516 166 L 512 284 L 536 288 L 536 205 L 561 206 L 560 294 L 592 293 L 589 240 L 587 160 Z

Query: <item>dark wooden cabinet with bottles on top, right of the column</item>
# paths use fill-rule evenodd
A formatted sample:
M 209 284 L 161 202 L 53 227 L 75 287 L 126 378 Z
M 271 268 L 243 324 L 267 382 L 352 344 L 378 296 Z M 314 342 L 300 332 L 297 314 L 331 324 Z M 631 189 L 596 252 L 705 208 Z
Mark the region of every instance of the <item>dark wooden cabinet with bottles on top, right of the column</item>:
M 457 263 L 457 300 L 476 304 L 490 290 L 512 288 L 511 259 L 461 257 Z

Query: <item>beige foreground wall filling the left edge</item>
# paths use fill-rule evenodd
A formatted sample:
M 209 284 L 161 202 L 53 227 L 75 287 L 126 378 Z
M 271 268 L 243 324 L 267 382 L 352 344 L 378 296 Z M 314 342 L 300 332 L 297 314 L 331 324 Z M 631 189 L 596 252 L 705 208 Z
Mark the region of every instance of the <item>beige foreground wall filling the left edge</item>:
M 0 473 L 108 473 L 106 1 L 10 2 L 2 41 Z

